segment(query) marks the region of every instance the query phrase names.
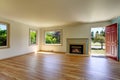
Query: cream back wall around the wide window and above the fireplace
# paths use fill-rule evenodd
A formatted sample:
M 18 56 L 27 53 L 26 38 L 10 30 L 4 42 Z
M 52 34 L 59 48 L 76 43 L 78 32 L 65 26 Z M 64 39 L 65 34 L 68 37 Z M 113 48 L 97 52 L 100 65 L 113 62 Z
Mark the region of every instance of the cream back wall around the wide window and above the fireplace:
M 41 28 L 41 46 L 40 50 L 46 51 L 57 51 L 57 52 L 66 52 L 67 51 L 67 38 L 89 38 L 91 36 L 91 27 L 104 27 L 111 24 L 111 22 L 99 22 L 99 23 L 90 23 L 90 24 L 74 24 L 68 26 L 52 27 L 52 28 Z M 62 46 L 53 46 L 44 44 L 44 32 L 46 30 L 62 29 L 63 30 L 63 45 Z

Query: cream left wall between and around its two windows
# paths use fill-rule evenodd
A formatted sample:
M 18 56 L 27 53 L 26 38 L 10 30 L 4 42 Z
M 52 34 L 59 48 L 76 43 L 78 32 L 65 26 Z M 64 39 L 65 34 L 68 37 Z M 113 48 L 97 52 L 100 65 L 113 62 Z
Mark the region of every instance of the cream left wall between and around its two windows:
M 33 26 L 4 18 L 0 18 L 0 22 L 10 24 L 10 48 L 0 49 L 0 59 L 34 52 L 39 49 L 38 45 L 29 46 L 29 28 L 33 28 Z

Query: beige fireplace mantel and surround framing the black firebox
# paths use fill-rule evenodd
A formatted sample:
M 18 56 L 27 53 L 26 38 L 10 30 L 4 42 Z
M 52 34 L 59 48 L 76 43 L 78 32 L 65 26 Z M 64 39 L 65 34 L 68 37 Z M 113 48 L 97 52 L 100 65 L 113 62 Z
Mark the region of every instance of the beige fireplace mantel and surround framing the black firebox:
M 83 45 L 83 55 L 88 55 L 88 38 L 67 38 L 67 53 L 70 54 L 70 45 Z

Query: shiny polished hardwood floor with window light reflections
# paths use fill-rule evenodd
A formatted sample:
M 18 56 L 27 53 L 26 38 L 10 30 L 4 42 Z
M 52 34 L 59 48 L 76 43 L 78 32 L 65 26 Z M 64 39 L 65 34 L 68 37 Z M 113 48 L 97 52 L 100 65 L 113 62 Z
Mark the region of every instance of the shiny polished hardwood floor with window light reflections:
M 120 80 L 120 62 L 50 52 L 31 53 L 1 60 L 0 80 Z

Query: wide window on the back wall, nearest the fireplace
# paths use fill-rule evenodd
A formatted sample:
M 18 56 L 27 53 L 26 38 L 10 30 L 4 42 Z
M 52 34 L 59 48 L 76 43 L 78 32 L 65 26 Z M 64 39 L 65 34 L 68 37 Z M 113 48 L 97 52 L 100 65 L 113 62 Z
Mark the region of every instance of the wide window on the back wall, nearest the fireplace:
M 45 31 L 45 44 L 61 45 L 62 30 Z

